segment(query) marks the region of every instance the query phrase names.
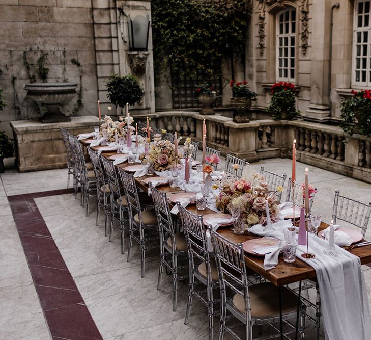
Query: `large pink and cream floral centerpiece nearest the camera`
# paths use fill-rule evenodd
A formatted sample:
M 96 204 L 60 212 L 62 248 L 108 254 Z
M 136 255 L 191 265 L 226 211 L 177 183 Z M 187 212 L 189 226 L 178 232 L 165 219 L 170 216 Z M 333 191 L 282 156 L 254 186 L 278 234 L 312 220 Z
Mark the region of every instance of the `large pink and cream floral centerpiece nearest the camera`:
M 279 219 L 275 193 L 282 190 L 280 186 L 276 191 L 269 191 L 265 178 L 256 173 L 239 180 L 227 178 L 221 182 L 220 193 L 216 197 L 216 207 L 223 213 L 231 213 L 237 208 L 245 224 L 265 226 L 267 225 L 266 201 L 268 201 L 271 221 L 274 223 Z

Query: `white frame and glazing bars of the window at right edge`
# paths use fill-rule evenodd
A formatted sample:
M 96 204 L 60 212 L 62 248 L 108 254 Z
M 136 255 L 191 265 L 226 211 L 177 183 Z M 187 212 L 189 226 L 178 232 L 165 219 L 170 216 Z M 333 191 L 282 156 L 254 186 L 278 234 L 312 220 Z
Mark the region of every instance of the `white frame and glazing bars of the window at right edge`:
M 354 14 L 353 14 L 353 55 L 352 55 L 352 87 L 371 87 L 371 10 L 368 12 L 368 25 L 364 26 L 364 20 L 365 20 L 365 3 L 369 0 L 356 0 L 354 3 Z M 362 27 L 358 27 L 358 6 L 359 3 L 363 3 L 363 12 L 362 12 Z M 371 9 L 371 2 L 370 2 L 370 9 Z M 357 35 L 358 33 L 361 34 L 361 42 L 359 43 L 361 46 L 364 45 L 363 40 L 363 33 L 367 32 L 367 43 L 365 44 L 367 46 L 367 53 L 366 53 L 366 80 L 363 81 L 357 81 L 356 79 L 356 71 L 359 70 L 359 72 L 362 72 L 364 70 L 361 68 L 362 66 L 362 57 L 360 58 L 360 68 L 357 68 Z M 362 47 L 361 47 L 362 49 Z

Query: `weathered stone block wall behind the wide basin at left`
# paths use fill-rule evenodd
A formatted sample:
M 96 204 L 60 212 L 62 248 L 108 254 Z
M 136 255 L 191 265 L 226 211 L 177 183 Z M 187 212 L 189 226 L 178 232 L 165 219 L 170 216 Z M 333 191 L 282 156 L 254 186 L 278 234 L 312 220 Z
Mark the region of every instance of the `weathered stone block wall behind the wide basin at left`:
M 91 1 L 83 0 L 0 0 L 0 88 L 4 89 L 7 104 L 0 112 L 0 129 L 10 132 L 9 121 L 34 110 L 23 90 L 24 85 L 30 83 L 24 58 L 34 65 L 28 73 L 41 81 L 37 60 L 42 53 L 48 54 L 45 62 L 49 68 L 48 82 L 79 84 L 79 68 L 71 60 L 81 64 L 83 108 L 80 115 L 97 115 L 91 5 Z M 19 110 L 14 106 L 19 106 Z

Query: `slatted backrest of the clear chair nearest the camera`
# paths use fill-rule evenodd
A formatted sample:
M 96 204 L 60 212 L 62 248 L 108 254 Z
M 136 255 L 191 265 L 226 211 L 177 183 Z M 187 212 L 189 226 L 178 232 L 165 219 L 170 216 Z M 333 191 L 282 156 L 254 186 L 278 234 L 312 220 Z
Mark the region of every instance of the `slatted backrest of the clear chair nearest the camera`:
M 212 228 L 209 228 L 209 230 L 219 271 L 220 289 L 223 294 L 226 294 L 227 287 L 234 292 L 233 294 L 237 293 L 244 297 L 245 317 L 249 332 L 251 332 L 251 305 L 242 243 L 233 243 L 216 231 L 214 232 Z M 239 290 L 238 287 L 242 289 Z M 251 335 L 248 338 L 251 338 Z

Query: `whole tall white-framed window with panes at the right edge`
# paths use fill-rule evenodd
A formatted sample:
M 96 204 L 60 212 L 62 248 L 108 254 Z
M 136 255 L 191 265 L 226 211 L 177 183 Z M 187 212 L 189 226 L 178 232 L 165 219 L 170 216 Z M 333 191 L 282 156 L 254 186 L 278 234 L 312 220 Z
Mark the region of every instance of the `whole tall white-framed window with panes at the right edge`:
M 371 86 L 370 0 L 354 6 L 352 85 Z

